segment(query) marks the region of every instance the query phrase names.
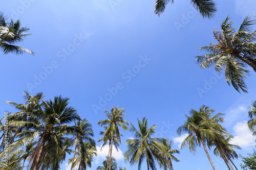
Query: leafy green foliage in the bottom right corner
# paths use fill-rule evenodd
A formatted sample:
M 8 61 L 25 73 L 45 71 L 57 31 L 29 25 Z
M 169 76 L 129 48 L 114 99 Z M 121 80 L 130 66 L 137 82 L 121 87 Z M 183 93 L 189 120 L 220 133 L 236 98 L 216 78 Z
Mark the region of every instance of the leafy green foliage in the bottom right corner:
M 239 157 L 242 158 L 243 164 L 241 163 L 240 166 L 243 170 L 247 170 L 247 169 L 256 169 L 256 151 L 255 149 L 253 149 L 253 153 L 252 154 L 248 154 L 248 157 L 243 157 L 241 155 L 239 155 Z

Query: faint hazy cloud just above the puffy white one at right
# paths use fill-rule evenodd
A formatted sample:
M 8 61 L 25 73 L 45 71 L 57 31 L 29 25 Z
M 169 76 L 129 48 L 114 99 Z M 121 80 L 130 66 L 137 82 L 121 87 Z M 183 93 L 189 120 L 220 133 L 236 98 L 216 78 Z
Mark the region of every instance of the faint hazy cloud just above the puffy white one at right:
M 233 125 L 234 122 L 238 120 L 247 118 L 248 109 L 244 105 L 238 105 L 237 107 L 233 107 L 228 109 L 226 112 L 225 119 L 225 127 Z

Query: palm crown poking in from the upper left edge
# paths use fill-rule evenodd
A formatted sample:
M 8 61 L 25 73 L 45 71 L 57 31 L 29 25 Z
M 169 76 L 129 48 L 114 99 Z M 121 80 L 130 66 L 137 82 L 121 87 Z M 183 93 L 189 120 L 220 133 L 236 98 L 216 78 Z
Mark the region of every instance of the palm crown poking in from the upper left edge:
M 23 41 L 26 36 L 30 34 L 25 34 L 29 28 L 20 27 L 20 21 L 7 21 L 7 17 L 4 13 L 0 12 L 0 48 L 4 51 L 4 54 L 14 52 L 16 54 L 29 53 L 34 55 L 30 50 L 13 45 L 16 42 Z

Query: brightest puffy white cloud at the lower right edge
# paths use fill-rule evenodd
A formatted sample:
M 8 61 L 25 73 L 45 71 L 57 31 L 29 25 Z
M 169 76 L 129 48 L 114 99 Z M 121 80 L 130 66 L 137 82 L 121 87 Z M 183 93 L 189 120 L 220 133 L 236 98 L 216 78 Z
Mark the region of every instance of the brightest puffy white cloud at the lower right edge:
M 247 122 L 243 120 L 238 122 L 234 127 L 234 138 L 230 140 L 231 144 L 237 144 L 240 147 L 248 148 L 255 145 L 255 136 L 252 136 L 252 132 L 247 127 Z

